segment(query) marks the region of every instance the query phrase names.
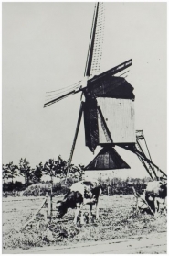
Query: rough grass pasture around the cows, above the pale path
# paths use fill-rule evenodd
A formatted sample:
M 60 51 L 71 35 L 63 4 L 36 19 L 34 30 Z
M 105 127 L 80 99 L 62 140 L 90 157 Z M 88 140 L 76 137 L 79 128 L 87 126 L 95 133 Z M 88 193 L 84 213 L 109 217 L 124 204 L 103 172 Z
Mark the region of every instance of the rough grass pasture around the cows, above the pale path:
M 57 201 L 58 198 L 54 198 Z M 19 201 L 18 201 L 19 200 Z M 94 223 L 73 224 L 74 211 L 58 221 L 53 217 L 48 229 L 44 216 L 39 214 L 26 228 L 20 229 L 41 205 L 43 198 L 3 202 L 3 248 L 29 249 L 47 245 L 69 245 L 108 239 L 130 239 L 132 236 L 155 235 L 166 232 L 164 215 L 154 219 L 149 215 L 135 214 L 132 211 L 133 195 L 100 196 L 100 219 Z M 55 205 L 54 205 L 55 206 Z M 85 207 L 89 209 L 89 206 Z M 93 209 L 95 213 L 95 208 Z

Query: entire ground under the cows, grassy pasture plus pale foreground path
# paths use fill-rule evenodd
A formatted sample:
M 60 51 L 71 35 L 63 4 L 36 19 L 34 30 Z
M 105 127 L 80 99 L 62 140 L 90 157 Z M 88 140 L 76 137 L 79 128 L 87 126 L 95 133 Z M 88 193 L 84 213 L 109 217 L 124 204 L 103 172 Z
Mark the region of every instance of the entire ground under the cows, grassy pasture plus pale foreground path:
M 55 203 L 57 200 L 58 198 L 54 198 Z M 50 248 L 51 253 L 58 254 L 66 253 L 67 247 L 77 246 L 77 244 L 86 244 L 86 250 L 90 248 L 90 251 L 93 251 L 89 253 L 97 253 L 96 249 L 103 249 L 101 243 L 106 243 L 108 240 L 110 252 L 106 249 L 98 253 L 121 254 L 122 250 L 142 254 L 166 253 L 166 217 L 162 214 L 154 219 L 149 215 L 134 214 L 133 200 L 132 195 L 100 196 L 100 219 L 91 224 L 75 226 L 73 224 L 74 212 L 70 209 L 61 221 L 53 217 L 49 227 L 41 213 L 30 225 L 21 229 L 41 205 L 43 198 L 34 197 L 27 198 L 27 200 L 23 198 L 22 201 L 16 198 L 12 202 L 11 199 L 6 198 L 3 202 L 4 253 L 9 250 L 13 250 L 13 253 L 16 253 L 15 251 L 19 253 L 19 250 L 24 250 L 22 253 L 28 253 L 29 250 L 44 249 L 45 251 L 45 248 L 49 246 L 48 250 Z M 88 209 L 89 206 L 86 206 L 86 211 Z M 118 239 L 120 241 L 116 243 Z M 91 247 L 87 246 L 89 243 Z M 53 247 L 55 249 L 52 252 Z M 57 252 L 55 252 L 56 247 L 58 247 Z M 64 250 L 60 252 L 62 247 Z M 72 253 L 76 254 L 76 250 L 73 249 Z

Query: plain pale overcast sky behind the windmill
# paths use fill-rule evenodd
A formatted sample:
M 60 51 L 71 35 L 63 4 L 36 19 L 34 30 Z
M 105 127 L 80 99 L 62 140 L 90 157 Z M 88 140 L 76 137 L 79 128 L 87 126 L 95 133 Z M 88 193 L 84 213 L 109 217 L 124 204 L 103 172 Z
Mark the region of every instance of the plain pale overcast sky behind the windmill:
M 80 94 L 43 104 L 46 91 L 83 78 L 94 3 L 3 3 L 2 10 L 3 163 L 68 159 Z M 105 3 L 105 18 L 100 71 L 132 59 L 126 79 L 134 87 L 136 129 L 166 172 L 166 3 Z M 136 155 L 116 150 L 132 167 L 121 173 L 146 175 Z M 86 165 L 95 155 L 85 147 L 82 120 L 73 162 Z

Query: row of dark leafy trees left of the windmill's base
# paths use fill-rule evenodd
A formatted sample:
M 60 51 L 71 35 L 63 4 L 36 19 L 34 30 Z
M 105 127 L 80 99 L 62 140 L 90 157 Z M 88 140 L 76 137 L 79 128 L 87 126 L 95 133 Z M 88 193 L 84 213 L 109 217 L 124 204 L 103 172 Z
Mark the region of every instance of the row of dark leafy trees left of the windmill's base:
M 37 184 L 41 182 L 43 175 L 49 175 L 50 181 L 53 181 L 54 177 L 64 179 L 67 176 L 69 160 L 65 161 L 58 156 L 58 160 L 48 159 L 44 164 L 39 162 L 36 165 L 36 168 L 30 166 L 30 162 L 26 158 L 21 158 L 19 164 L 14 164 L 13 161 L 10 161 L 7 164 L 3 164 L 3 184 L 7 183 L 15 184 L 14 179 L 19 176 L 25 177 L 25 186 L 29 184 Z M 75 180 L 81 180 L 84 173 L 84 165 L 74 165 L 70 164 L 69 166 L 69 177 L 73 177 Z M 18 183 L 18 182 L 16 182 Z

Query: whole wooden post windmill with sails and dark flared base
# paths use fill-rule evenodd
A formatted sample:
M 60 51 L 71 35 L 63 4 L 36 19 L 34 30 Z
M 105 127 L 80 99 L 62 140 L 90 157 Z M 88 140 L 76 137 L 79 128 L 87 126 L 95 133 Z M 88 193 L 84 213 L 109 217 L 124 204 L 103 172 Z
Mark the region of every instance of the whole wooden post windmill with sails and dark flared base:
M 132 66 L 132 60 L 124 61 L 106 72 L 99 73 L 103 32 L 104 4 L 99 2 L 94 8 L 84 78 L 78 83 L 74 83 L 57 92 L 49 92 L 48 97 L 50 98 L 44 104 L 44 107 L 47 107 L 69 95 L 81 92 L 79 117 L 70 151 L 69 166 L 72 161 L 82 114 L 84 116 L 86 146 L 89 147 L 91 152 L 94 152 L 97 146 L 102 147 L 100 153 L 90 162 L 86 170 L 130 168 L 114 149 L 115 146 L 120 146 L 136 153 L 135 96 L 133 95 L 132 85 L 124 77 L 129 72 L 129 67 Z M 84 96 L 85 101 L 82 101 L 82 96 Z M 137 155 L 143 161 L 140 154 L 138 153 Z

